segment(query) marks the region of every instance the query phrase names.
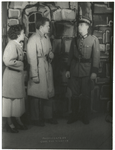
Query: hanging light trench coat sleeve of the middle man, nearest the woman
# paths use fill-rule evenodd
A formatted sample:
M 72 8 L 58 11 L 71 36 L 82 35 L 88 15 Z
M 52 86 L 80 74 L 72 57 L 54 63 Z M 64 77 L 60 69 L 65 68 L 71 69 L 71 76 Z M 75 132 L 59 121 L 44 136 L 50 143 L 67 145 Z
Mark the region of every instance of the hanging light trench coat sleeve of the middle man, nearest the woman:
M 36 40 L 31 37 L 27 44 L 27 59 L 30 64 L 30 77 L 38 77 Z

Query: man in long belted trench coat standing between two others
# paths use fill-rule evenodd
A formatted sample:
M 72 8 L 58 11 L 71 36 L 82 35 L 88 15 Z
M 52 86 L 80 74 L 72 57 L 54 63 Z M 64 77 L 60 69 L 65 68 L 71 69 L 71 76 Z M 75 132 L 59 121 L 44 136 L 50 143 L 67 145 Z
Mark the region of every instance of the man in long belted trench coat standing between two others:
M 56 124 L 52 116 L 52 101 L 54 96 L 53 74 L 51 61 L 54 57 L 49 33 L 49 20 L 40 18 L 36 23 L 34 33 L 27 44 L 27 59 L 30 64 L 27 93 L 30 97 L 31 120 L 38 126 L 44 126 L 44 119 Z

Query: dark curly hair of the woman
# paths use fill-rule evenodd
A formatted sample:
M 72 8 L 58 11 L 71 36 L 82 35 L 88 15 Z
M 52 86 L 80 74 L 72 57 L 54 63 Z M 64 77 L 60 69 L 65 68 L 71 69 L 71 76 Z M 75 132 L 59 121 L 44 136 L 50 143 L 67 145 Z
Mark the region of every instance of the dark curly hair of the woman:
M 24 30 L 24 26 L 21 24 L 13 25 L 8 30 L 8 37 L 11 40 L 15 40 L 18 38 L 18 35 L 20 35 L 21 31 Z

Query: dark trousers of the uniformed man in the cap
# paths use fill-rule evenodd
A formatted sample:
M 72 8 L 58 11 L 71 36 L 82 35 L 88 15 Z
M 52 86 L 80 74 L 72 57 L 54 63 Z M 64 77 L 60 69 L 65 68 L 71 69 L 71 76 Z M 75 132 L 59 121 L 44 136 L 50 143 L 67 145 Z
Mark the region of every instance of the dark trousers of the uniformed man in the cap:
M 88 117 L 91 108 L 90 77 L 71 77 L 69 87 L 72 91 L 72 111 L 78 112 L 81 100 L 81 113 Z

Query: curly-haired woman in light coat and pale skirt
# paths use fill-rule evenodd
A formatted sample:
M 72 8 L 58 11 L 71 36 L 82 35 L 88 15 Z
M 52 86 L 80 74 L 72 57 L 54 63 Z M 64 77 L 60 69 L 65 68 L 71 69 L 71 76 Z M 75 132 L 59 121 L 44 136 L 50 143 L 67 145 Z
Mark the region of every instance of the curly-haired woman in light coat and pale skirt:
M 9 42 L 3 54 L 6 69 L 3 74 L 3 112 L 7 117 L 7 129 L 18 133 L 18 129 L 26 130 L 20 116 L 25 112 L 25 89 L 23 76 L 23 49 L 20 44 L 25 33 L 22 25 L 14 25 L 8 31 Z M 15 126 L 11 117 L 16 117 Z

